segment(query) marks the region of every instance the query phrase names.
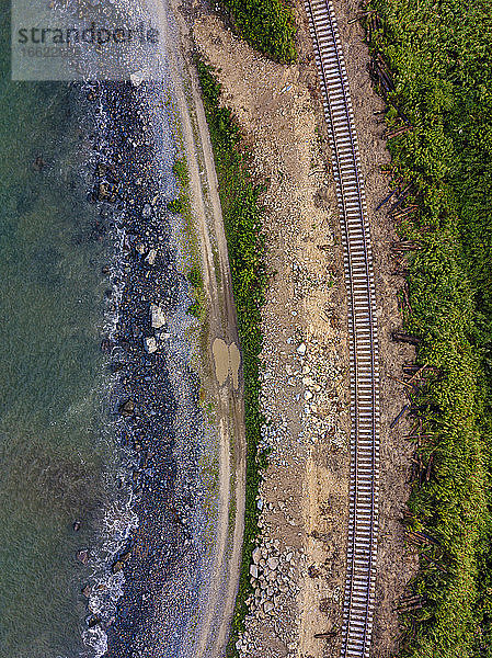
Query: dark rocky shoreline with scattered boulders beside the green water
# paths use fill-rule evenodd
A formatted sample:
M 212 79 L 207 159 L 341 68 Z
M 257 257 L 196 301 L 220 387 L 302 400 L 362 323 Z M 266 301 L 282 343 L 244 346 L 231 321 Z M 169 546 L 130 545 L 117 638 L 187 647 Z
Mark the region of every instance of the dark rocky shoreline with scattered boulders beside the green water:
M 156 125 L 149 106 L 163 93 L 130 83 L 88 92 L 105 115 L 104 135 L 94 140 L 92 203 L 100 207 L 100 230 L 113 240 L 115 258 L 104 268 L 111 292 L 101 348 L 114 381 L 112 422 L 126 472 L 116 487 L 126 490 L 134 515 L 133 527 L 114 533 L 119 546 L 106 555 L 105 574 L 94 569 L 82 586 L 89 609 L 84 637 L 96 656 L 173 656 L 184 642 L 179 629 L 194 613 L 193 592 L 202 578 L 199 460 L 206 438 L 185 336 L 196 324 L 187 314 L 193 292 L 173 235 L 178 218 L 167 209 L 176 195 L 175 148 L 165 133 L 170 117 L 162 112 Z M 115 492 L 115 501 L 125 496 Z M 96 553 L 89 552 L 88 569 Z M 174 595 L 181 592 L 182 605 L 162 614 L 170 587 Z M 169 631 L 165 646 L 162 623 Z

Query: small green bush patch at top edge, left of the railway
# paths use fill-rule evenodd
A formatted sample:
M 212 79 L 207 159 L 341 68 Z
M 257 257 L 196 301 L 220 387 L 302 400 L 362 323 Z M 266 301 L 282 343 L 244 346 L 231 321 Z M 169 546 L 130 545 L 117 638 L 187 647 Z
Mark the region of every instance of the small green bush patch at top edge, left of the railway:
M 221 0 L 240 36 L 283 64 L 296 60 L 295 24 L 283 0 Z

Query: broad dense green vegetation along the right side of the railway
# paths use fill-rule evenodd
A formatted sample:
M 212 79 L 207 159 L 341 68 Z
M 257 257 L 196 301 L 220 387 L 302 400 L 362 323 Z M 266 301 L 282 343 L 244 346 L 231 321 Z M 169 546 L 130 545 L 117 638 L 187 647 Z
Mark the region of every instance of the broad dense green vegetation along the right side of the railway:
M 407 330 L 432 366 L 415 396 L 423 464 L 409 502 L 424 533 L 402 614 L 401 656 L 492 656 L 492 4 L 369 0 L 389 110 L 393 177 L 413 183 L 399 226 L 409 259 Z M 386 63 L 386 66 L 385 66 Z M 389 71 L 391 71 L 389 73 Z M 422 476 L 424 474 L 424 476 Z

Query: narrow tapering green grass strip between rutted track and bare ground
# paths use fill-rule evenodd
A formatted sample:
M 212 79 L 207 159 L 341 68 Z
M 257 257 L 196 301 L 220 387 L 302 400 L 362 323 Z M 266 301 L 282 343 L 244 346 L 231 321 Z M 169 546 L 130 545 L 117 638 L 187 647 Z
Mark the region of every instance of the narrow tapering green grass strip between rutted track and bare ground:
M 259 354 L 263 342 L 261 308 L 266 286 L 262 209 L 259 205 L 262 188 L 255 185 L 248 173 L 248 155 L 241 148 L 234 117 L 229 109 L 219 105 L 220 84 L 215 80 L 213 69 L 202 61 L 197 66 L 219 181 L 244 371 L 247 500 L 239 594 L 228 646 L 228 655 L 233 656 L 237 654 L 234 643 L 247 614 L 245 600 L 251 592 L 249 566 L 260 532 L 256 496 L 261 472 L 266 466 L 266 455 L 259 450 L 263 423 Z

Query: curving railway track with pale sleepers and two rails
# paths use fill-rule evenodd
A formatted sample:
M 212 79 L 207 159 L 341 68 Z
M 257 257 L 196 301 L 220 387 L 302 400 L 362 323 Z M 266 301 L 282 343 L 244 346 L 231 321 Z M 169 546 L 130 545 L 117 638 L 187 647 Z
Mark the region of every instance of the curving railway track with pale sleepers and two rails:
M 368 658 L 378 533 L 379 373 L 364 182 L 345 64 L 329 0 L 305 0 L 330 127 L 344 248 L 351 363 L 351 488 L 342 658 Z

